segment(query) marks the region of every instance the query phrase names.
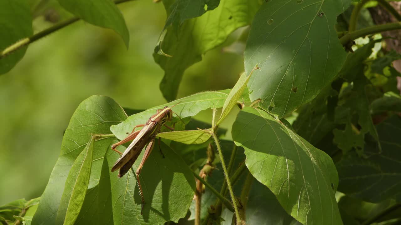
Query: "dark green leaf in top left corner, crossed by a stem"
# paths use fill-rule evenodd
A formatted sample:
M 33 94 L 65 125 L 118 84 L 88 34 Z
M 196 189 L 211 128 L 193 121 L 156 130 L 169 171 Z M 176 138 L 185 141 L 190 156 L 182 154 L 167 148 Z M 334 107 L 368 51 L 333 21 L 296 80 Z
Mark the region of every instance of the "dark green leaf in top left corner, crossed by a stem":
M 26 0 L 0 1 L 0 52 L 33 34 L 32 15 Z M 26 47 L 0 58 L 0 74 L 10 71 L 24 56 Z

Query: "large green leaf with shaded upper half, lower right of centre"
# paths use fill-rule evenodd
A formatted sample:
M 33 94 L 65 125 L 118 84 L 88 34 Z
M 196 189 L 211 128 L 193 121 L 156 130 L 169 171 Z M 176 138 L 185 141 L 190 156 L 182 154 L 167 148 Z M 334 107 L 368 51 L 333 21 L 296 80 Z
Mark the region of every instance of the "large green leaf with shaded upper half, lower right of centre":
M 287 213 L 303 224 L 342 224 L 334 197 L 338 175 L 326 153 L 261 109 L 241 110 L 232 135 L 251 174 Z

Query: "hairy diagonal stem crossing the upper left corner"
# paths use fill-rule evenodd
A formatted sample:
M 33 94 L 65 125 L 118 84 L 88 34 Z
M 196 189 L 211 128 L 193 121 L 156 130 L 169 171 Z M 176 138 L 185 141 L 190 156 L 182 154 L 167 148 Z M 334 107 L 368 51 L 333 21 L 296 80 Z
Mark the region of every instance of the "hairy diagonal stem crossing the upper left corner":
M 128 1 L 132 1 L 132 0 L 116 0 L 115 4 L 120 4 L 120 3 L 128 2 Z M 34 34 L 27 38 L 23 38 L 22 40 L 17 41 L 16 43 L 8 46 L 2 52 L 0 52 L 0 59 L 4 58 L 5 56 L 15 52 L 16 50 L 18 50 L 28 44 L 32 44 L 36 40 L 39 40 L 49 34 L 52 34 L 53 32 L 56 32 L 57 30 L 60 30 L 61 28 L 64 28 L 65 26 L 68 26 L 74 22 L 77 22 L 78 20 L 80 20 L 80 18 L 78 18 L 78 17 L 69 18 L 63 22 L 60 22 L 58 24 L 55 24 L 54 26 L 51 26 L 45 30 L 42 30 L 41 32 L 38 32 L 37 34 Z

